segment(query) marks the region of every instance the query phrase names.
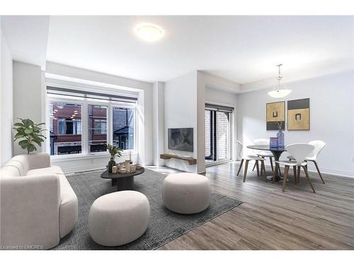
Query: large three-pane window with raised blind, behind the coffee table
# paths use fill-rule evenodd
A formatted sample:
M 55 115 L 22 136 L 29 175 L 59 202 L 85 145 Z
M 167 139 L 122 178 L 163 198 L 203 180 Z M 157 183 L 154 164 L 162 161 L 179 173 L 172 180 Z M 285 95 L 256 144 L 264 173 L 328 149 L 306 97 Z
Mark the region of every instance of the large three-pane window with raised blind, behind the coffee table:
M 47 86 L 47 99 L 51 155 L 106 152 L 106 143 L 137 148 L 137 98 Z

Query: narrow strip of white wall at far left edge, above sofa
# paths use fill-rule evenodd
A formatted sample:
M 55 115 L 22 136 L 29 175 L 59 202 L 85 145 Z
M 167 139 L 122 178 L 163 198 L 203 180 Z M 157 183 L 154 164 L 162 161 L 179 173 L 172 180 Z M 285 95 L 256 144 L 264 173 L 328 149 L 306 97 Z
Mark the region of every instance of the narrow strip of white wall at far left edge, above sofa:
M 12 157 L 13 84 L 10 49 L 2 32 L 0 35 L 0 165 L 4 165 Z

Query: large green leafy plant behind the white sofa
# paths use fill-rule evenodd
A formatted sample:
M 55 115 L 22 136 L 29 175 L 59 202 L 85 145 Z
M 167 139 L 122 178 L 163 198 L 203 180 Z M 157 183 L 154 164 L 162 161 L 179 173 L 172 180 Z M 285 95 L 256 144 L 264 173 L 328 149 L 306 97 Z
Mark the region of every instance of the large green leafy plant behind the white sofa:
M 27 149 L 27 153 L 37 151 L 35 144 L 42 146 L 42 142 L 46 137 L 42 135 L 42 129 L 40 126 L 45 123 L 35 124 L 31 119 L 21 119 L 21 122 L 16 122 L 13 124 L 13 129 L 15 129 L 16 134 L 13 141 L 18 140 L 18 145 L 22 149 Z

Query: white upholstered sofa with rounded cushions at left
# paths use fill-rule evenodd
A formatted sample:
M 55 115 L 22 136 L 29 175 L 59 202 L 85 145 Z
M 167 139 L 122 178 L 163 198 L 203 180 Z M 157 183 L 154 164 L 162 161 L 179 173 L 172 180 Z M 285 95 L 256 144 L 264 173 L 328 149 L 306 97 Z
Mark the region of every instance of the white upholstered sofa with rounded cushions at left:
M 75 227 L 78 201 L 50 155 L 16 155 L 0 169 L 0 247 L 50 249 Z

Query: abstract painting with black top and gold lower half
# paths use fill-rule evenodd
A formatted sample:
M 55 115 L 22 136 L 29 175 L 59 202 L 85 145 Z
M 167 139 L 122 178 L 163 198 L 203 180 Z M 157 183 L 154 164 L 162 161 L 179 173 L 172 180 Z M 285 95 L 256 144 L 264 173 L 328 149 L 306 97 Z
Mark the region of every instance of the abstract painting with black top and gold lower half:
M 309 130 L 309 98 L 287 101 L 287 129 Z

